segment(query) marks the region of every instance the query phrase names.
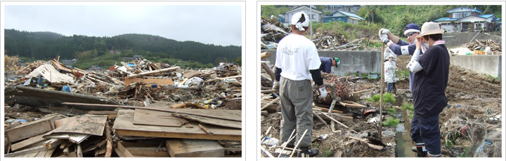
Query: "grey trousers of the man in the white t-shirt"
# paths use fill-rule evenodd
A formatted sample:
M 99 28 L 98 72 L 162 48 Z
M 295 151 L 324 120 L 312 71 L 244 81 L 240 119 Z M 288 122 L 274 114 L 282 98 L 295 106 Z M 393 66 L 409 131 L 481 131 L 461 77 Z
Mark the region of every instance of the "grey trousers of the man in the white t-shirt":
M 299 147 L 311 146 L 313 136 L 313 92 L 311 80 L 290 80 L 280 79 L 280 102 L 281 102 L 281 141 L 285 143 L 290 139 L 290 134 L 297 128 L 294 134 L 297 138 L 292 139 L 289 144 L 295 145 L 305 130 L 306 135 L 299 144 Z

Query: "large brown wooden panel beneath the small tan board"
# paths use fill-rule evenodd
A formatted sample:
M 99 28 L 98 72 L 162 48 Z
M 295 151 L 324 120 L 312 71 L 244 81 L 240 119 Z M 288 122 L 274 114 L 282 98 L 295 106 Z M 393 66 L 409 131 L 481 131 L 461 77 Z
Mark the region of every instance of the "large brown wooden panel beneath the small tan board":
M 112 127 L 112 129 L 115 130 L 115 134 L 117 136 L 233 140 L 233 141 L 242 140 L 241 137 L 242 130 L 228 127 L 208 125 L 207 130 L 209 130 L 209 132 L 214 133 L 214 135 L 209 135 L 200 130 L 200 128 L 135 125 L 133 121 L 134 121 L 134 110 L 120 109 L 118 111 L 118 116 L 115 120 L 115 124 Z M 198 124 L 195 122 L 192 122 L 191 124 L 194 127 L 198 126 Z

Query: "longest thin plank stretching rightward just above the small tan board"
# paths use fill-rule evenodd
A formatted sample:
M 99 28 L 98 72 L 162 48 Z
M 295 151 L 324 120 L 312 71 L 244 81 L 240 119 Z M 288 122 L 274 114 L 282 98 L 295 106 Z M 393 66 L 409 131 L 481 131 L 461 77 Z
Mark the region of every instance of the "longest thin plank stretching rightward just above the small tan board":
M 172 112 L 172 113 L 186 113 L 197 116 L 205 116 L 209 118 L 220 118 L 223 120 L 242 120 L 242 113 L 240 110 L 204 110 L 204 109 L 167 109 L 167 107 L 158 107 L 158 106 L 149 106 L 149 107 L 141 107 L 141 106 L 121 106 L 121 105 L 112 105 L 112 104 L 82 104 L 82 103 L 70 103 L 64 102 L 63 105 L 78 105 L 78 106 L 105 106 L 105 107 L 120 107 L 126 109 L 147 109 L 153 111 L 164 111 L 164 112 Z

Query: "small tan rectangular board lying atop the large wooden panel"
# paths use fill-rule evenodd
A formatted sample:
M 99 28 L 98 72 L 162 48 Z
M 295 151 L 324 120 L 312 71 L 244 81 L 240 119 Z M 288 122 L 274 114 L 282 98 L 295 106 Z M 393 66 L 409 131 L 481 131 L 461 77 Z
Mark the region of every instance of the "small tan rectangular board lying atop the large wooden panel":
M 171 115 L 168 112 L 160 112 L 145 109 L 135 109 L 134 124 L 181 127 L 184 120 Z

